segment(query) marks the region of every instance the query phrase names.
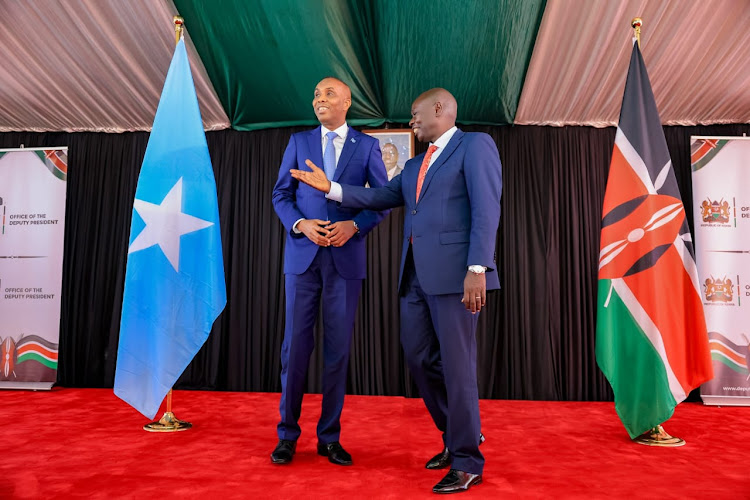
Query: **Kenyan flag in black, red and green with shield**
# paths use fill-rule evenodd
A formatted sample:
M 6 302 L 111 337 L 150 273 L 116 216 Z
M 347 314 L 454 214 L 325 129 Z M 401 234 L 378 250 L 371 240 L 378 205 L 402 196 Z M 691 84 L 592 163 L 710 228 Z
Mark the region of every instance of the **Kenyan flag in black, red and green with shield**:
M 596 359 L 634 438 L 713 377 L 685 209 L 635 43 L 602 214 Z

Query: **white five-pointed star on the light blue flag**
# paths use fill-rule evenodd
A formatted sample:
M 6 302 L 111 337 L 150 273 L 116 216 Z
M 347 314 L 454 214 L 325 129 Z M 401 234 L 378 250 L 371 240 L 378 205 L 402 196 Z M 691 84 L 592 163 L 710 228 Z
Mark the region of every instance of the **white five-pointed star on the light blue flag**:
M 159 245 L 175 271 L 179 271 L 180 265 L 180 237 L 214 224 L 182 212 L 182 177 L 169 190 L 161 205 L 136 199 L 133 208 L 146 227 L 133 240 L 128 253 Z

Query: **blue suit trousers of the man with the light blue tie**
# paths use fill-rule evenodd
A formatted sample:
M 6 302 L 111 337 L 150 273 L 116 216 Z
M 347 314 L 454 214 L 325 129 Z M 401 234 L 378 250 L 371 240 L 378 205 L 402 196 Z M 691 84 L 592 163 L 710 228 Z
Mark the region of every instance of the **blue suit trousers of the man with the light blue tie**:
M 362 280 L 339 275 L 331 249 L 318 249 L 302 274 L 286 274 L 286 324 L 281 346 L 281 421 L 279 439 L 296 441 L 310 355 L 315 347 L 314 328 L 323 299 L 323 402 L 318 421 L 318 441 L 339 440 L 341 411 L 346 393 L 354 318 Z

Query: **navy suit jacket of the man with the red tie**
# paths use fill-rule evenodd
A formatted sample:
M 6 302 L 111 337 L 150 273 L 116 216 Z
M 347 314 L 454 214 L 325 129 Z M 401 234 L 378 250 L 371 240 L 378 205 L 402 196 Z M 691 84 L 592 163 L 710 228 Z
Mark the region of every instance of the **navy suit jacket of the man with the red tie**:
M 417 177 L 424 153 L 412 158 L 386 186 L 343 186 L 343 207 L 383 210 L 404 205 L 399 283 L 409 248 L 417 278 L 430 295 L 463 293 L 467 266 L 487 267 L 487 289 L 500 288 L 495 239 L 500 223 L 502 173 L 497 146 L 484 133 L 457 130 L 427 171 L 419 202 Z

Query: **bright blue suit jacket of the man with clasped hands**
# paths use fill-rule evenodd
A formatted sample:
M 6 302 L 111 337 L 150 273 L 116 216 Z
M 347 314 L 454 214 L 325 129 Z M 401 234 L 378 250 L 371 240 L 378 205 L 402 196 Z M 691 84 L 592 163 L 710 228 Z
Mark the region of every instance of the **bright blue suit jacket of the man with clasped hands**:
M 307 159 L 323 168 L 320 127 L 292 135 L 281 160 L 279 178 L 273 188 L 273 207 L 287 230 L 284 272 L 304 273 L 320 248 L 304 234 L 292 231 L 294 223 L 299 219 L 331 222 L 354 220 L 359 233 L 343 246 L 331 247 L 331 252 L 336 270 L 343 278 L 363 279 L 367 267 L 364 237 L 387 212 L 343 208 L 336 202 L 327 200 L 320 191 L 293 179 L 289 170 L 309 170 L 305 165 Z M 369 183 L 373 187 L 383 186 L 388 182 L 378 140 L 349 128 L 333 180 L 355 186 Z

